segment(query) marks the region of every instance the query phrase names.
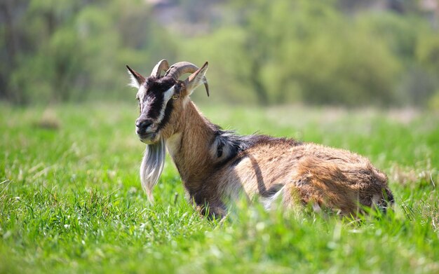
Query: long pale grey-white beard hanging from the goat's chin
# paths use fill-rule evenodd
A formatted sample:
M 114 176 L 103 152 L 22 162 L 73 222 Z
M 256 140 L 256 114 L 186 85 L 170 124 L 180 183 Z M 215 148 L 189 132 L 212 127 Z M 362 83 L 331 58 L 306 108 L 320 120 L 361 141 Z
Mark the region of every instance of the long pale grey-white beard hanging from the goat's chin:
M 147 144 L 147 149 L 144 151 L 142 164 L 140 165 L 140 181 L 151 203 L 154 203 L 152 189 L 154 189 L 163 171 L 165 156 L 166 147 L 163 138 L 160 138 L 160 140 L 154 144 Z

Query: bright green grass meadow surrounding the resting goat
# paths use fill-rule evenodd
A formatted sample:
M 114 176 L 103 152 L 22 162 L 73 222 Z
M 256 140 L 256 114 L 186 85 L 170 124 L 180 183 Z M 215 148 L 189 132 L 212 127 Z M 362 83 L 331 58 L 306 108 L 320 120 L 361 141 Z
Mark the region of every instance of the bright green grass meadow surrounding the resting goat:
M 0 105 L 0 273 L 438 273 L 439 115 L 204 106 L 239 133 L 350 149 L 389 174 L 361 222 L 237 203 L 222 222 L 184 199 L 168 158 L 149 205 L 133 104 Z

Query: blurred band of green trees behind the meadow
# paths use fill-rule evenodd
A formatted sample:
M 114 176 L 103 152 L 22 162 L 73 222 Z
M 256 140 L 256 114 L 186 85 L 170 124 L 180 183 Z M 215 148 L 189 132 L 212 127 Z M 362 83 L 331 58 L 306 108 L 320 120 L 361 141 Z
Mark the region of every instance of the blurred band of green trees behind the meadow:
M 0 100 L 133 100 L 163 58 L 217 102 L 438 108 L 439 0 L 0 0 Z

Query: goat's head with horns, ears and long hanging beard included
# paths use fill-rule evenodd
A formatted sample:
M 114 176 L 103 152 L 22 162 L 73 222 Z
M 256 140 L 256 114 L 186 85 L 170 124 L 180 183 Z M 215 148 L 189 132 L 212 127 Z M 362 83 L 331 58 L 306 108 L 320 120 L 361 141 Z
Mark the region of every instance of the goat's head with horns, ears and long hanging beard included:
M 140 116 L 135 121 L 135 131 L 140 140 L 147 144 L 140 165 L 140 180 L 149 200 L 153 201 L 151 191 L 165 163 L 165 139 L 178 132 L 184 123 L 183 110 L 195 88 L 204 83 L 209 95 L 208 82 L 204 76 L 208 62 L 198 69 L 188 62 L 179 62 L 169 67 L 168 61 L 161 60 L 148 78 L 127 68 L 131 76 L 130 85 L 138 90 L 136 97 L 139 100 Z M 160 75 L 161 71 L 166 71 L 164 76 Z M 180 76 L 187 73 L 191 75 L 180 81 Z

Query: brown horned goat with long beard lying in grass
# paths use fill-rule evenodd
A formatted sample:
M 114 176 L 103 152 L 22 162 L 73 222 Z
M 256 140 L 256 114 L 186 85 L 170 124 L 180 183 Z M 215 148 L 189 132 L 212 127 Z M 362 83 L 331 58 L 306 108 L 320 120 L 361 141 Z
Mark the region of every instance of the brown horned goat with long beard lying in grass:
M 224 217 L 227 201 L 238 193 L 250 200 L 259 196 L 267 209 L 279 200 L 285 208 L 309 204 L 353 216 L 364 207 L 385 211 L 393 203 L 386 174 L 356 153 L 294 139 L 239 136 L 208 121 L 189 99 L 202 83 L 209 95 L 208 62 L 198 69 L 161 60 L 147 78 L 126 67 L 138 90 L 135 129 L 147 144 L 140 179 L 149 200 L 168 149 L 189 198 L 210 217 Z

